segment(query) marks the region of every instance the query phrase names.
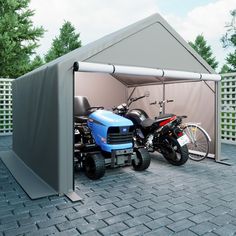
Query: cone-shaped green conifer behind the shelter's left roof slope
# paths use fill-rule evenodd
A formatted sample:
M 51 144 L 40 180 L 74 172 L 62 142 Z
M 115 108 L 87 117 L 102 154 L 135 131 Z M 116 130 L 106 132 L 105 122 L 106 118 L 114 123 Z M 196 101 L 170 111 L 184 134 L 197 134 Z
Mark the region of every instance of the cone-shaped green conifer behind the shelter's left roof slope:
M 81 41 L 79 40 L 80 34 L 75 33 L 74 26 L 65 21 L 60 28 L 60 34 L 56 37 L 48 53 L 45 55 L 45 61 L 52 61 L 76 48 L 81 47 Z

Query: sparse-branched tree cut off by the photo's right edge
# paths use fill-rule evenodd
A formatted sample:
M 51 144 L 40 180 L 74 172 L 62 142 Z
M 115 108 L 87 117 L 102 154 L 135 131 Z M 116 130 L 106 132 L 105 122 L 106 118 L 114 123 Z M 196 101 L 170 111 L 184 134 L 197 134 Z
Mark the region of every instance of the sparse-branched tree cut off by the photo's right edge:
M 224 48 L 233 48 L 234 51 L 226 57 L 226 65 L 223 66 L 221 72 L 236 72 L 236 9 L 230 12 L 232 20 L 226 24 L 226 33 L 221 38 Z

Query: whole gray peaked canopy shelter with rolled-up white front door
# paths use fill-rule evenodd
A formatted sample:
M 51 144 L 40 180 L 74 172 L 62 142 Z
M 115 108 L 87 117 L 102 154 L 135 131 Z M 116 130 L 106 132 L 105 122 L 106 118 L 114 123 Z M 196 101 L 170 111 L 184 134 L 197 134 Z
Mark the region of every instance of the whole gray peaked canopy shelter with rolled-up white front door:
M 16 79 L 13 149 L 0 156 L 32 199 L 73 192 L 74 95 L 109 107 L 125 102 L 136 87 L 133 95 L 148 88 L 156 98 L 191 101 L 192 118 L 209 120 L 219 159 L 219 80 L 160 15 L 152 15 Z M 173 112 L 180 112 L 178 104 Z

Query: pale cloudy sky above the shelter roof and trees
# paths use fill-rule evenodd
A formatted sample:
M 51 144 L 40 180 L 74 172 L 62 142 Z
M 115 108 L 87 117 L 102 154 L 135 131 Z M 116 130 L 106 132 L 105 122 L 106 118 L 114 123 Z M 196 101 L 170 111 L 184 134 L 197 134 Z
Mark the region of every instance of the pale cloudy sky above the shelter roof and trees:
M 222 48 L 220 38 L 236 0 L 31 0 L 30 8 L 35 10 L 34 25 L 47 30 L 39 42 L 37 53 L 41 56 L 64 21 L 75 26 L 86 45 L 157 12 L 186 41 L 203 34 L 221 67 L 229 49 Z

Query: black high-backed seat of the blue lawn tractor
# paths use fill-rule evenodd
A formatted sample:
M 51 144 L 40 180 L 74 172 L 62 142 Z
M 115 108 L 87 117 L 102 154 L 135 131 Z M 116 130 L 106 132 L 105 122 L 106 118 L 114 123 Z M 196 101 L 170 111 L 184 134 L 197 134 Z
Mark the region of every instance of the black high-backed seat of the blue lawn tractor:
M 87 97 L 74 97 L 74 118 L 76 123 L 85 123 L 88 120 L 90 104 Z

